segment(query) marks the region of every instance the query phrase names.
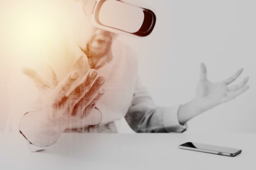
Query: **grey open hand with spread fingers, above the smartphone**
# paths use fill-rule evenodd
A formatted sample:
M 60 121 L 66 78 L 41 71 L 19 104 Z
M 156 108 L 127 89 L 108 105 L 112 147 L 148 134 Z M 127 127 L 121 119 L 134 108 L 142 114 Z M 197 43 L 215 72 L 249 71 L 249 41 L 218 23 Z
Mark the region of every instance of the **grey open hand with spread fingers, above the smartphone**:
M 239 69 L 232 77 L 225 81 L 213 83 L 207 79 L 207 70 L 204 64 L 200 66 L 200 80 L 197 85 L 196 99 L 202 111 L 209 110 L 218 104 L 235 99 L 236 96 L 245 92 L 249 86 L 246 85 L 249 77 L 246 77 L 240 84 L 228 86 L 242 73 Z

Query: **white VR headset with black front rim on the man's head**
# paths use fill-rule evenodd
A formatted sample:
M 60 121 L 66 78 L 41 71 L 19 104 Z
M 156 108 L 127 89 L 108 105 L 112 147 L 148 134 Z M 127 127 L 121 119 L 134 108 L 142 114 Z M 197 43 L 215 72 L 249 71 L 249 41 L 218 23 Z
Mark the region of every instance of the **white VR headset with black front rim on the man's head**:
M 156 24 L 153 11 L 127 0 L 85 0 L 84 12 L 95 27 L 116 34 L 147 36 Z

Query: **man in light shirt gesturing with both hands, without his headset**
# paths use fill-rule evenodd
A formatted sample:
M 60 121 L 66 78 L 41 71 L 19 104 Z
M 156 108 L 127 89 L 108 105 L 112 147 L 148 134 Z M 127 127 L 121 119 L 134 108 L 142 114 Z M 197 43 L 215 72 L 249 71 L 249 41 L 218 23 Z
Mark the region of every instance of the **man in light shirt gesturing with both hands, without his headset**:
M 80 47 L 84 55 L 69 68 L 59 68 L 65 71 L 49 67 L 46 79 L 24 69 L 39 90 L 39 100 L 20 119 L 20 132 L 31 144 L 52 145 L 62 132 L 117 132 L 114 121 L 123 117 L 135 132 L 184 132 L 188 120 L 249 88 L 249 78 L 230 86 L 243 69 L 212 83 L 201 64 L 196 97 L 158 107 L 138 80 L 136 55 L 116 36 L 94 28 L 87 45 Z

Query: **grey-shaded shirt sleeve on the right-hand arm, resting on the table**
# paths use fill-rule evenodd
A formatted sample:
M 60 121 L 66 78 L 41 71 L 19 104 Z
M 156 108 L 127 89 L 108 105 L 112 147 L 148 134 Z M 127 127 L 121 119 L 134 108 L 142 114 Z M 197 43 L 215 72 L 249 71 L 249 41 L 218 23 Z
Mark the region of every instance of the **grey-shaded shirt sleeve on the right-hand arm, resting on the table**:
M 173 107 L 157 106 L 138 80 L 133 101 L 125 119 L 130 127 L 138 133 L 181 133 L 186 131 L 187 125 L 179 123 L 178 109 L 179 105 Z

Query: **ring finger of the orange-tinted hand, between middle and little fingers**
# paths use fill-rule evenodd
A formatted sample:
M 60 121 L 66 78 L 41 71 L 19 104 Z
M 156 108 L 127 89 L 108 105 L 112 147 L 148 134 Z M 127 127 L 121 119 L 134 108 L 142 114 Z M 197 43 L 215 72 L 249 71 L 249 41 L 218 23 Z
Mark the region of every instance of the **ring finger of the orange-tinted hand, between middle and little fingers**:
M 100 88 L 102 87 L 102 85 L 104 84 L 105 79 L 103 77 L 98 77 L 96 79 L 96 81 L 94 82 L 94 84 L 90 87 L 90 89 L 86 92 L 86 94 L 83 96 L 83 100 L 82 100 L 82 104 L 83 106 L 88 106 L 91 102 L 97 99 L 97 95 L 98 93 L 101 94 L 101 92 L 99 92 Z M 104 92 L 104 90 L 103 90 Z

